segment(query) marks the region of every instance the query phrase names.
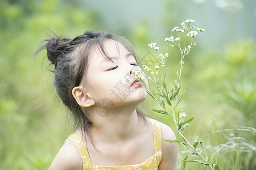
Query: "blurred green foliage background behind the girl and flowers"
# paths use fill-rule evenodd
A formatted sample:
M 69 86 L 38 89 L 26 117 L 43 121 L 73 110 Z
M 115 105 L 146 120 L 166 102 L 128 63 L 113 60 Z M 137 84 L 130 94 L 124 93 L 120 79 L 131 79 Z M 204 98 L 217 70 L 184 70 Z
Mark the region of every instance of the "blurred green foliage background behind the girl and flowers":
M 256 2 L 254 0 L 190 1 L 60 1 L 11 0 L 0 2 L 0 167 L 48 169 L 72 133 L 72 120 L 56 95 L 46 51 L 35 59 L 44 28 L 57 35 L 75 37 L 88 29 L 106 29 L 127 37 L 143 58 L 160 48 L 171 29 L 185 19 L 205 32 L 185 58 L 178 109 L 195 116 L 185 136 L 207 146 L 218 146 L 240 137 L 250 149 L 223 148 L 214 160 L 221 169 L 256 169 L 255 129 L 224 131 L 237 126 L 255 128 L 256 109 Z M 178 49 L 169 50 L 168 82 L 179 66 Z M 44 61 L 44 62 L 43 62 Z M 144 102 L 158 108 L 149 97 Z M 144 109 L 148 117 L 173 127 L 171 118 Z M 175 131 L 176 133 L 176 131 Z M 241 142 L 241 141 L 240 141 Z M 214 150 L 208 149 L 209 154 Z M 184 148 L 179 147 L 180 159 Z M 193 158 L 191 158 L 193 159 Z M 188 163 L 187 169 L 205 169 Z

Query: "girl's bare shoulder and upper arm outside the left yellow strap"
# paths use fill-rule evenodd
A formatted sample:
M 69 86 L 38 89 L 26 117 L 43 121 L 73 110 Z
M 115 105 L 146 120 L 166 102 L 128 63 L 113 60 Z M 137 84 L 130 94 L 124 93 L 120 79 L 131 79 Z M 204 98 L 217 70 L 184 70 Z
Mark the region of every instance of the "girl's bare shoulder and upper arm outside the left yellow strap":
M 80 153 L 70 139 L 60 148 L 49 169 L 82 169 Z

